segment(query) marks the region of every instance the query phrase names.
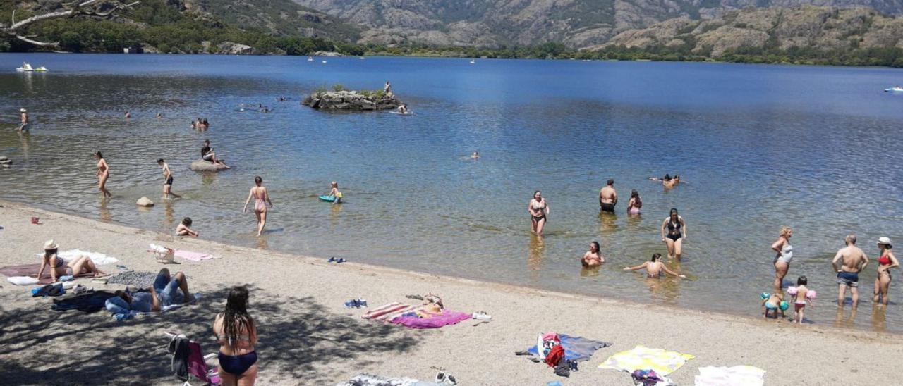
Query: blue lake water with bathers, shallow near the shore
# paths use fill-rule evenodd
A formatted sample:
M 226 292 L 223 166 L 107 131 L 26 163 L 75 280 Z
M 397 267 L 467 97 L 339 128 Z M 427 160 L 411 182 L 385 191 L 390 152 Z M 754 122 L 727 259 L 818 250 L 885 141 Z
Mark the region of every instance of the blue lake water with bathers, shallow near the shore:
M 23 60 L 51 72 L 15 73 Z M 317 87 L 386 80 L 415 115 L 299 105 Z M 900 332 L 903 283 L 892 283 L 886 313 L 873 308 L 873 262 L 858 315 L 838 314 L 831 269 L 845 234 L 872 258 L 879 236 L 903 244 L 903 95 L 882 92 L 900 83 L 898 69 L 2 54 L 0 155 L 15 163 L 0 170 L 0 196 L 166 233 L 191 216 L 203 238 L 232 244 L 750 317 L 774 278 L 770 244 L 789 225 L 787 279 L 805 274 L 819 292 L 807 317 Z M 237 111 L 242 103 L 273 112 Z M 20 107 L 30 134 L 13 130 Z M 206 133 L 190 128 L 199 116 Z M 188 170 L 204 139 L 233 170 Z M 108 201 L 96 150 L 111 168 Z M 160 157 L 184 199 L 160 199 Z M 666 191 L 647 180 L 665 173 L 685 183 Z M 275 204 L 261 238 L 241 212 L 256 175 Z M 610 178 L 618 214 L 600 216 L 596 195 Z M 330 180 L 345 193 L 339 206 L 316 198 Z M 634 188 L 644 207 L 630 217 Z M 551 208 L 542 239 L 526 212 L 536 189 Z M 158 205 L 137 209 L 142 196 Z M 671 207 L 688 238 L 684 261 L 670 265 L 690 279 L 620 271 L 666 253 L 658 226 Z M 584 271 L 592 240 L 610 262 Z

